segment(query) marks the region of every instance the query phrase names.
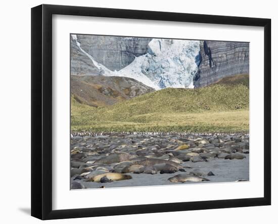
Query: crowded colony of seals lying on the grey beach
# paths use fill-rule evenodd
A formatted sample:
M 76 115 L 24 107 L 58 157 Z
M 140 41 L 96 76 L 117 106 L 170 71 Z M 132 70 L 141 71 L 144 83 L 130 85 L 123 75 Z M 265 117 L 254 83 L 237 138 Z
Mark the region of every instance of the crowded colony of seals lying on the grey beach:
M 106 133 L 71 136 L 71 189 L 249 180 L 249 136 Z

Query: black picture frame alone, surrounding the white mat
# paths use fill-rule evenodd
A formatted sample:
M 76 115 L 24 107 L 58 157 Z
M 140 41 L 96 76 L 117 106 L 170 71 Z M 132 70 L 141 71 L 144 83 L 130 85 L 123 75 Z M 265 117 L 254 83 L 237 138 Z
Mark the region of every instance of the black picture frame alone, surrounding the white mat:
M 52 15 L 264 27 L 264 197 L 232 200 L 52 209 Z M 76 218 L 271 204 L 271 20 L 260 18 L 40 5 L 31 9 L 31 215 Z

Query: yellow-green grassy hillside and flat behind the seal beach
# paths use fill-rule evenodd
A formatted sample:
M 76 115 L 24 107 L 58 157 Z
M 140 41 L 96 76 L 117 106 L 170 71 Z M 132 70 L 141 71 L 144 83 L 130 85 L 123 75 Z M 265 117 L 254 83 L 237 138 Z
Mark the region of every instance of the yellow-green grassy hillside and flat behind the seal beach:
M 166 88 L 98 108 L 71 97 L 71 129 L 248 132 L 249 89 L 244 84 Z

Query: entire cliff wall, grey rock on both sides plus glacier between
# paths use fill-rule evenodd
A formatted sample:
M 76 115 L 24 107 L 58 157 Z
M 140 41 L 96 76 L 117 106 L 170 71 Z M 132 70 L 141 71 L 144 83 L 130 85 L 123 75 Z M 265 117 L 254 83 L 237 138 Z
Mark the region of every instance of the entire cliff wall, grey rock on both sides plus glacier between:
M 71 35 L 71 74 L 122 76 L 155 89 L 249 74 L 249 43 Z

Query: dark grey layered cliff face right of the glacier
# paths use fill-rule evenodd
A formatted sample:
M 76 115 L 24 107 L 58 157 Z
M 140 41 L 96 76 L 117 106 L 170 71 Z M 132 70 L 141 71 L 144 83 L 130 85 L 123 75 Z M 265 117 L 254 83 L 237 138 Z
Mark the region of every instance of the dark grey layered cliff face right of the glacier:
M 201 62 L 194 77 L 194 86 L 202 87 L 220 78 L 249 74 L 249 43 L 200 41 Z

